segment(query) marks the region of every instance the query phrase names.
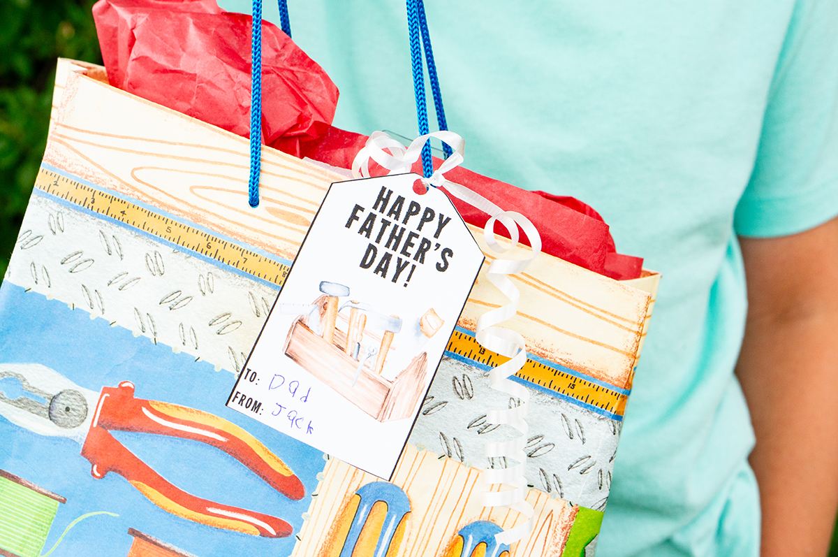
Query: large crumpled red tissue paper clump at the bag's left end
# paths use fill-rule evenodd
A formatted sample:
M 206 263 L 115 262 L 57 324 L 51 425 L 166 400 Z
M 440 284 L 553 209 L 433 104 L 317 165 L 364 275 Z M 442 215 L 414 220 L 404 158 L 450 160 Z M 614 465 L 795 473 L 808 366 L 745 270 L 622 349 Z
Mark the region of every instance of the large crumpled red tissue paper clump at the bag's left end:
M 250 16 L 215 0 L 107 0 L 93 16 L 112 86 L 250 136 Z M 263 141 L 298 154 L 331 125 L 338 88 L 276 26 L 262 49 Z

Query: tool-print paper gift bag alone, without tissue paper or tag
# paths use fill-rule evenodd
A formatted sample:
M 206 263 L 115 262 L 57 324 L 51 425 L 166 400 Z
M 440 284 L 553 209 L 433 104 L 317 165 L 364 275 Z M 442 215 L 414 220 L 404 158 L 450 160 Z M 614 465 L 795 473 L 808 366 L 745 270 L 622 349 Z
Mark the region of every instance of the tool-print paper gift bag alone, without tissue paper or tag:
M 44 163 L 0 289 L 3 554 L 592 550 L 657 274 L 618 282 L 542 253 L 513 278 L 534 513 L 531 534 L 501 544 L 495 534 L 526 517 L 484 507 L 481 470 L 512 464 L 484 455 L 509 436 L 487 411 L 516 403 L 489 388 L 503 358 L 473 336 L 478 316 L 505 303 L 489 261 L 392 476 L 350 466 L 225 406 L 344 176 L 264 148 L 251 209 L 246 139 L 108 86 L 101 68 L 60 60 L 57 73 Z M 318 388 L 313 376 L 286 386 L 295 418 Z

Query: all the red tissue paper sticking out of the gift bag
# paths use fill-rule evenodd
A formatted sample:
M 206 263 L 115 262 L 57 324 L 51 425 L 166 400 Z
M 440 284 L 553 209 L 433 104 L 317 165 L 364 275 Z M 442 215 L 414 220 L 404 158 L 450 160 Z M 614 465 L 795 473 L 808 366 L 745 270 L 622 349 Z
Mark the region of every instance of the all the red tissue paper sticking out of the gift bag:
M 250 136 L 250 16 L 225 12 L 215 0 L 100 0 L 93 15 L 112 86 Z M 262 25 L 262 72 L 264 143 L 299 158 L 351 168 L 366 136 L 331 125 L 337 87 L 267 22 Z M 434 164 L 442 161 L 434 159 Z M 414 170 L 421 174 L 420 162 Z M 642 272 L 643 259 L 616 252 L 608 225 L 579 200 L 521 190 L 463 168 L 446 178 L 527 216 L 541 234 L 544 252 L 612 279 L 635 279 Z M 489 220 L 482 211 L 452 200 L 468 223 L 484 226 Z M 499 234 L 506 233 L 502 228 Z M 525 237 L 521 241 L 526 243 Z

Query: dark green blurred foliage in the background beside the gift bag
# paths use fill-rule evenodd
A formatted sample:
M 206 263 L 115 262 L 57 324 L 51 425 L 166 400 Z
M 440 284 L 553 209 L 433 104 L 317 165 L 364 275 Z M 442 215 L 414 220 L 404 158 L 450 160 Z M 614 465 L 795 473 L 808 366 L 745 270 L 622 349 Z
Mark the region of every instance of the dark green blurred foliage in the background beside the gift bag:
M 44 155 L 55 59 L 101 64 L 94 0 L 0 0 L 0 277 Z M 838 557 L 833 536 L 830 557 Z

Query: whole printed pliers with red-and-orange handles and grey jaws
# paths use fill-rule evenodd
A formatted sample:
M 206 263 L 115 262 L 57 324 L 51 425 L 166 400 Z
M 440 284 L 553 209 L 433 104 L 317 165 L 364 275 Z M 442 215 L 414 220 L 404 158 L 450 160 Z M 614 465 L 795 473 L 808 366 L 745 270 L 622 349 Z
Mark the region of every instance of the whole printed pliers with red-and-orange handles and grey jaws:
M 277 492 L 302 499 L 303 482 L 239 426 L 201 410 L 134 398 L 134 385 L 127 381 L 96 393 L 39 364 L 0 364 L 0 379 L 5 377 L 18 379 L 23 391 L 34 396 L 11 398 L 0 388 L 0 415 L 40 435 L 79 441 L 94 477 L 116 472 L 159 508 L 197 523 L 268 538 L 292 534 L 291 525 L 280 518 L 208 501 L 173 486 L 111 435 L 111 431 L 133 431 L 215 446 Z

